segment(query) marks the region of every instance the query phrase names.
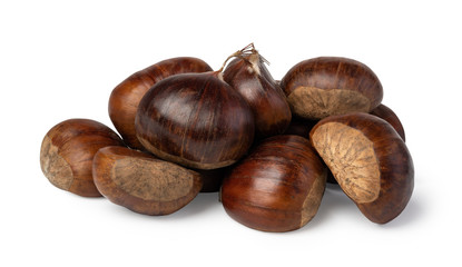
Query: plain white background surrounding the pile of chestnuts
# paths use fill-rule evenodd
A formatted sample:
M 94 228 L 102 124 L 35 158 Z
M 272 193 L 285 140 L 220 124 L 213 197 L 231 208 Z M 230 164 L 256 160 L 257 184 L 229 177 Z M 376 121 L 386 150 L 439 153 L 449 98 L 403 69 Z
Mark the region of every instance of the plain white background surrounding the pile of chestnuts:
M 460 259 L 462 42 L 458 1 L 1 1 L 0 266 L 456 266 Z M 218 69 L 249 42 L 281 79 L 298 61 L 342 56 L 370 66 L 401 118 L 413 197 L 375 225 L 328 187 L 304 228 L 267 234 L 199 195 L 166 217 L 51 186 L 40 144 L 56 123 L 112 127 L 112 88 L 163 59 Z

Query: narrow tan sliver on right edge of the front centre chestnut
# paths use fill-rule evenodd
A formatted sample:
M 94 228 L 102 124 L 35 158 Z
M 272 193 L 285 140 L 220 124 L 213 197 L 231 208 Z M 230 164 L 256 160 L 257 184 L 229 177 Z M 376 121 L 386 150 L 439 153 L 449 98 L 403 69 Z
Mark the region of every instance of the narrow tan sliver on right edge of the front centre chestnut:
M 323 199 L 326 178 L 327 172 L 325 171 L 321 177 L 317 177 L 306 196 L 305 201 L 303 201 L 301 227 L 306 225 L 316 215 L 321 205 L 321 199 Z

